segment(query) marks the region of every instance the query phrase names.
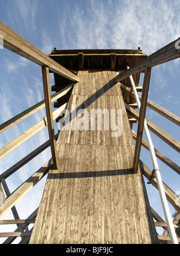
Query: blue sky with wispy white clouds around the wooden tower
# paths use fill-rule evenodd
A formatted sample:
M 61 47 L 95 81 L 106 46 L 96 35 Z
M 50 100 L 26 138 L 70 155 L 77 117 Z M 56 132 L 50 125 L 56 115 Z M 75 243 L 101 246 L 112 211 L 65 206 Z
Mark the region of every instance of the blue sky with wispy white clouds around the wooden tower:
M 180 37 L 179 1 L 2 0 L 0 5 L 0 20 L 45 54 L 49 54 L 55 46 L 57 49 L 137 49 L 140 46 L 144 53 L 150 55 Z M 43 84 L 41 67 L 37 64 L 5 48 L 0 49 L 0 58 L 0 123 L 3 123 L 41 101 Z M 179 116 L 180 95 L 179 64 L 178 59 L 152 68 L 148 97 L 177 116 Z M 50 84 L 54 85 L 52 75 L 50 75 Z M 19 136 L 43 116 L 46 116 L 44 109 L 0 134 L 0 146 Z M 149 108 L 146 110 L 146 117 L 180 141 L 177 125 Z M 137 126 L 133 128 L 136 131 Z M 55 123 L 55 131 L 57 130 Z M 44 128 L 2 158 L 0 172 L 7 170 L 47 139 L 47 129 Z M 176 164 L 180 163 L 178 152 L 165 145 L 154 134 L 152 141 L 155 148 Z M 10 192 L 13 192 L 49 158 L 50 150 L 47 149 L 8 178 Z M 152 169 L 149 152 L 146 149 L 142 150 L 140 158 Z M 161 161 L 158 163 L 163 181 L 174 192 L 178 192 L 179 175 Z M 44 182 L 45 179 L 17 203 L 20 218 L 28 217 L 38 207 Z M 164 217 L 157 190 L 150 184 L 147 185 L 147 189 L 151 206 Z M 24 211 L 23 205 L 27 201 L 29 208 Z M 174 212 L 171 206 L 170 211 Z M 4 216 L 4 219 L 11 218 L 11 213 Z M 1 229 L 7 231 L 7 227 L 5 229 L 2 226 Z M 8 231 L 13 231 L 11 225 L 8 226 Z

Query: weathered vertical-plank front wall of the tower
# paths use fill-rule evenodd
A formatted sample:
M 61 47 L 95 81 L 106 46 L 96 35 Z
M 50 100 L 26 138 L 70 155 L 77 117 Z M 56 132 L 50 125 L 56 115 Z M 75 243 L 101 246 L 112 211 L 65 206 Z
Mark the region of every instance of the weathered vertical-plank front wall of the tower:
M 135 146 L 115 75 L 79 71 L 64 119 L 70 129 L 61 130 L 57 142 L 59 169 L 49 170 L 29 243 L 158 243 L 142 173 L 133 173 Z M 122 134 L 112 137 L 116 130 L 104 128 L 104 114 L 98 130 L 98 117 L 91 118 L 97 109 L 122 110 Z

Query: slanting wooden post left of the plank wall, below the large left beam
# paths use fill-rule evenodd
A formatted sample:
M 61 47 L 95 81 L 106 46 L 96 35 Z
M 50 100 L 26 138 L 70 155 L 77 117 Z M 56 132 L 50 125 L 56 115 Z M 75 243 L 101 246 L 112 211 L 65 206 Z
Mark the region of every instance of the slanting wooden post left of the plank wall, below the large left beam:
M 50 83 L 49 83 L 49 69 L 46 66 L 42 66 L 43 75 L 43 88 L 44 88 L 44 100 L 46 105 L 46 116 L 47 116 L 47 126 L 49 131 L 50 148 L 52 152 L 52 160 L 54 169 L 58 169 L 58 155 L 56 151 L 56 140 L 55 131 L 53 126 L 53 116 L 52 116 L 52 102 L 50 98 Z

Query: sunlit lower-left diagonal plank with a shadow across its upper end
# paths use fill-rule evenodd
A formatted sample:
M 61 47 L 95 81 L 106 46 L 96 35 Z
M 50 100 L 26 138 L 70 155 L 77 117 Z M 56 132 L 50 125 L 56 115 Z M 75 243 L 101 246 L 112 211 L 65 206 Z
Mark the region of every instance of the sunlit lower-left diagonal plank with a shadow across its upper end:
M 0 218 L 4 216 L 35 184 L 38 183 L 48 172 L 51 159 L 44 164 L 37 172 L 28 178 L 19 188 L 17 188 L 11 195 L 5 200 L 3 205 L 0 205 Z

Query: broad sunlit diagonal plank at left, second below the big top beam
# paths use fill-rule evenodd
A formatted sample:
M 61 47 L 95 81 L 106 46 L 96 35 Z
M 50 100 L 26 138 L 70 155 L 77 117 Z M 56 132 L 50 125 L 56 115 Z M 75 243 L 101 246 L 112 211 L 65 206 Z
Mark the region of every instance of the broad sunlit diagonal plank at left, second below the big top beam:
M 59 114 L 62 112 L 62 110 L 64 110 L 64 108 L 66 106 L 67 106 L 67 103 L 62 105 L 57 110 L 53 111 L 53 120 L 55 120 L 59 116 Z M 44 120 L 45 120 L 45 122 L 44 122 Z M 2 157 L 4 157 L 5 155 L 7 155 L 8 153 L 10 153 L 11 151 L 13 151 L 14 148 L 17 148 L 17 146 L 19 146 L 20 144 L 22 144 L 23 142 L 28 140 L 35 133 L 37 133 L 38 131 L 43 129 L 44 126 L 46 126 L 46 122 L 47 122 L 47 117 L 45 117 L 44 119 L 41 119 L 40 122 L 36 123 L 31 128 L 29 128 L 24 133 L 22 133 L 19 137 L 16 137 L 16 139 L 12 140 L 7 145 L 5 145 L 3 148 L 1 148 L 0 149 L 0 159 Z

